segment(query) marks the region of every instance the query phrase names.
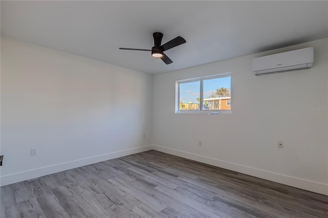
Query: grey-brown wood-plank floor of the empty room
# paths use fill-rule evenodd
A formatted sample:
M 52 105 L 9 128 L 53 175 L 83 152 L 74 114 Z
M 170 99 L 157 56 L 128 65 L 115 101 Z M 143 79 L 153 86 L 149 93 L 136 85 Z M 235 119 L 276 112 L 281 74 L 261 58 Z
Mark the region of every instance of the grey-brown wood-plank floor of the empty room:
M 328 197 L 150 150 L 1 187 L 1 217 L 328 217 Z

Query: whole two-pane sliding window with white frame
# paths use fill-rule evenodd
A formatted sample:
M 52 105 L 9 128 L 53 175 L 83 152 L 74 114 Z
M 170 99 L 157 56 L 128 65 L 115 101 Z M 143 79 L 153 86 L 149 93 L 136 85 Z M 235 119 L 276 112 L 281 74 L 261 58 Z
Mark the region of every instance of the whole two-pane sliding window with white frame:
M 231 113 L 232 74 L 176 81 L 176 113 Z

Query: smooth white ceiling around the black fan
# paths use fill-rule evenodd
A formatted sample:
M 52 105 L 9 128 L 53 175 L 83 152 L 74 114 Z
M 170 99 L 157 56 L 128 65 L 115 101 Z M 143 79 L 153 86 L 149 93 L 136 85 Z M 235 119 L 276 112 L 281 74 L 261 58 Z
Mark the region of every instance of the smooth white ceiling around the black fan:
M 166 65 L 146 51 L 153 32 Z M 327 1 L 1 1 L 1 35 L 158 74 L 325 38 Z

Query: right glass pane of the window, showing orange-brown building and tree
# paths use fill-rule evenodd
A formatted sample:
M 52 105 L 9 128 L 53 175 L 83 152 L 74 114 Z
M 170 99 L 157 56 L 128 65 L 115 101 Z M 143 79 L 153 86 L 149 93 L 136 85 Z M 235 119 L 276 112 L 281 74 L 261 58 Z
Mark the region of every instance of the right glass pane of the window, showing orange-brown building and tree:
M 231 76 L 203 80 L 203 110 L 231 110 Z

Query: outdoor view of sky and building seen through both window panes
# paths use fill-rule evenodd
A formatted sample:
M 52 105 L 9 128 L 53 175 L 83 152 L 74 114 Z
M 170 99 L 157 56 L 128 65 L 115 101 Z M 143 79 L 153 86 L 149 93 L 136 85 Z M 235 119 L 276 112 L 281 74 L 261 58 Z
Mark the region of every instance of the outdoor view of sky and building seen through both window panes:
M 181 82 L 179 101 L 179 110 L 231 110 L 231 76 Z

